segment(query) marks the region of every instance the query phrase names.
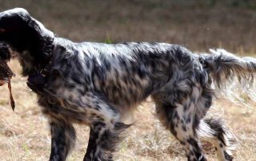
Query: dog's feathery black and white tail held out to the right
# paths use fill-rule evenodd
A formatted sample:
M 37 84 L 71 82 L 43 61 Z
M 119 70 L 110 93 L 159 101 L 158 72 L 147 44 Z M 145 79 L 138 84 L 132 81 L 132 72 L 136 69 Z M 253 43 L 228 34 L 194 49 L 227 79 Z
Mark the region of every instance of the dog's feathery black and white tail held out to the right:
M 237 92 L 239 87 L 256 100 L 256 58 L 237 57 L 224 49 L 210 49 L 210 53 L 200 54 L 199 60 L 210 74 L 215 88 L 225 89 L 234 95 L 234 91 Z

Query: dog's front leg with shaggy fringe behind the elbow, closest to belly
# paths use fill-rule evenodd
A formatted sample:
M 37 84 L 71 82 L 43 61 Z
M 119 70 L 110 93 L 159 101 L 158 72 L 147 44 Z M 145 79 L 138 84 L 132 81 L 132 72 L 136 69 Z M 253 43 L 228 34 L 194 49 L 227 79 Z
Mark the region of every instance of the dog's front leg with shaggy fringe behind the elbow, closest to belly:
M 74 101 L 80 113 L 86 113 L 85 122 L 90 125 L 90 138 L 84 161 L 112 161 L 113 153 L 122 140 L 122 132 L 130 127 L 123 124 L 121 116 L 110 101 L 98 93 L 89 93 Z

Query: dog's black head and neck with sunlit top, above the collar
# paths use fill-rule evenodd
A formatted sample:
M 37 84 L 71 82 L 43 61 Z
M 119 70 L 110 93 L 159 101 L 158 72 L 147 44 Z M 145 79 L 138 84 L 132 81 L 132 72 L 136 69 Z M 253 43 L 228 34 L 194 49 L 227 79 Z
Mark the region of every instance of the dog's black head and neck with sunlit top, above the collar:
M 24 76 L 42 69 L 53 49 L 54 33 L 22 9 L 0 13 L 0 59 L 18 53 Z M 1 49 L 2 46 L 2 49 Z

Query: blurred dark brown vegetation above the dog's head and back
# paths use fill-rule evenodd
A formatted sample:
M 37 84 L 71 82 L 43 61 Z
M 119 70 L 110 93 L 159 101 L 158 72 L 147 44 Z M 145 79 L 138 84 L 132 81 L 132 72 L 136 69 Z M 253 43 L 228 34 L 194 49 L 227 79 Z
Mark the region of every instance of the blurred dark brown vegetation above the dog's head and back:
M 255 0 L 0 0 L 73 41 L 165 41 L 255 53 Z

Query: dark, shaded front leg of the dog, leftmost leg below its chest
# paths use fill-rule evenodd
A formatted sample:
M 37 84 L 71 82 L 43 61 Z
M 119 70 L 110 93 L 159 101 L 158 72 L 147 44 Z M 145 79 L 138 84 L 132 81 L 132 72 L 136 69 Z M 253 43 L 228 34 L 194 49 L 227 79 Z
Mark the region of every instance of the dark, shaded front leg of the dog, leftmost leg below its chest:
M 65 161 L 75 143 L 75 130 L 66 120 L 50 120 L 50 161 Z

